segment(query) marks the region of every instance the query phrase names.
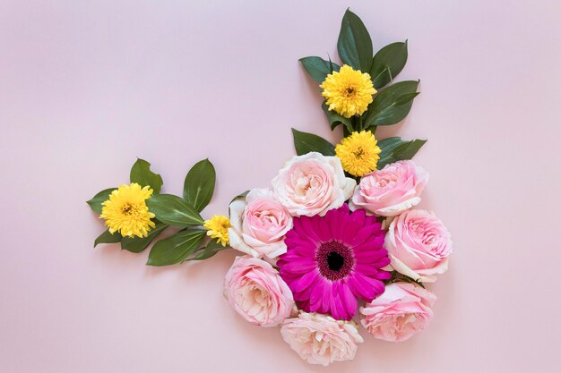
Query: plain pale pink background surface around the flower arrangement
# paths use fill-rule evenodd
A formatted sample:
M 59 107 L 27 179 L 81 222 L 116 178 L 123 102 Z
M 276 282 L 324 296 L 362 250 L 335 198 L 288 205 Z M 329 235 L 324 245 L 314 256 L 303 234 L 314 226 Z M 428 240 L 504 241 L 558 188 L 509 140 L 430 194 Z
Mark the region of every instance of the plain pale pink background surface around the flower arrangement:
M 369 338 L 352 363 L 309 366 L 276 328 L 222 298 L 236 252 L 146 267 L 85 200 L 127 182 L 135 157 L 180 194 L 210 157 L 204 216 L 266 186 L 290 127 L 333 141 L 298 58 L 335 55 L 347 6 L 375 49 L 410 40 L 409 118 L 428 138 L 423 207 L 453 232 L 427 331 Z M 0 371 L 558 372 L 561 5 L 476 1 L 23 1 L 0 3 Z

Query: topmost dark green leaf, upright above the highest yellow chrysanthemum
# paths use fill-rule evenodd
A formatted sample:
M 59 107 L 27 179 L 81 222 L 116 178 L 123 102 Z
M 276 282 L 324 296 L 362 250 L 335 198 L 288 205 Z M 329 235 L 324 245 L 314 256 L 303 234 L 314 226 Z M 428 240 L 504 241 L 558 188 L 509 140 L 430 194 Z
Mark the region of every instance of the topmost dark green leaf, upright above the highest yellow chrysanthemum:
M 369 72 L 372 65 L 372 39 L 358 15 L 347 9 L 341 21 L 337 51 L 344 64 L 361 72 Z

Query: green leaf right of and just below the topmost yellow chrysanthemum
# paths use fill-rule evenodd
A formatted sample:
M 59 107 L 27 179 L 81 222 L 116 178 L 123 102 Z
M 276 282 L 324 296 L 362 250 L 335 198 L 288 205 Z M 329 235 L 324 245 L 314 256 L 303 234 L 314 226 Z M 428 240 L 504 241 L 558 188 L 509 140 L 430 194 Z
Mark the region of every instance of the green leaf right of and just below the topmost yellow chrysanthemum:
M 418 86 L 419 81 L 400 81 L 382 89 L 368 106 L 365 128 L 401 122 L 409 114 L 413 98 L 419 94 Z

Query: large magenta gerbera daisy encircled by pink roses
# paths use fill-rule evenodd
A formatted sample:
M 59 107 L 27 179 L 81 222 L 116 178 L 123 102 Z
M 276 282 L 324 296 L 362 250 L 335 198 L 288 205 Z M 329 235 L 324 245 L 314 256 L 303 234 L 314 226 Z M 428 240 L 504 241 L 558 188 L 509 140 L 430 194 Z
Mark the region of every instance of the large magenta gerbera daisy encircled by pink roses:
M 390 264 L 384 231 L 362 209 L 350 213 L 343 204 L 323 217 L 297 217 L 285 243 L 280 276 L 306 312 L 350 320 L 358 299 L 372 301 L 391 277 L 382 269 Z

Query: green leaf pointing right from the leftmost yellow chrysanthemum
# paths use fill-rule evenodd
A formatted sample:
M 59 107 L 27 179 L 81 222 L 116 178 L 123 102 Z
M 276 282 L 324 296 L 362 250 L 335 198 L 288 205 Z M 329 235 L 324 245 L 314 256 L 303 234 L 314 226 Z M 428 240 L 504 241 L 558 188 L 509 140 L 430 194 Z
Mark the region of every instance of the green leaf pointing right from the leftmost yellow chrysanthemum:
M 148 209 L 160 222 L 187 227 L 203 225 L 203 217 L 185 200 L 171 194 L 156 194 L 146 200 Z

